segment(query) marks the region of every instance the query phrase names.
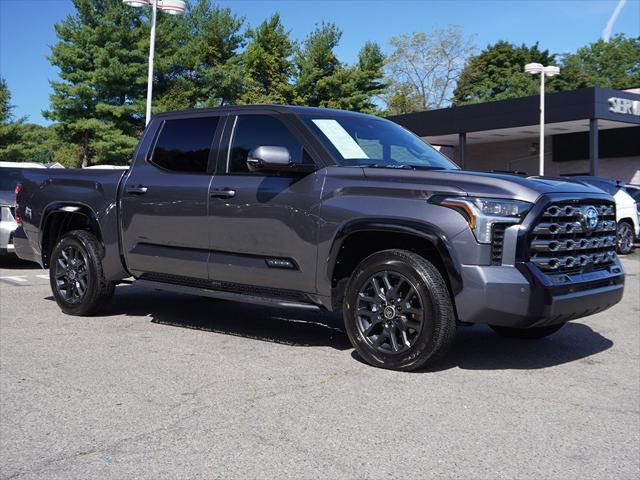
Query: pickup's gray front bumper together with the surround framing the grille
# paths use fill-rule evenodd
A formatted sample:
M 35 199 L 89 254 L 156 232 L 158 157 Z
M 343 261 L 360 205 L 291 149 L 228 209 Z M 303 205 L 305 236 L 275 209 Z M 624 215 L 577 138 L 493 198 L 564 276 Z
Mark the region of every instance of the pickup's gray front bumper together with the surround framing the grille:
M 505 230 L 500 263 L 462 262 L 463 288 L 455 296 L 458 319 L 517 328 L 540 327 L 593 315 L 618 303 L 624 290 L 624 270 L 617 257 L 606 266 L 593 263 L 580 269 L 581 273 L 543 272 L 543 267 L 529 260 L 530 232 L 542 212 L 555 203 L 585 200 L 613 203 L 610 197 L 599 194 L 579 200 L 566 194 L 545 196 L 522 224 Z

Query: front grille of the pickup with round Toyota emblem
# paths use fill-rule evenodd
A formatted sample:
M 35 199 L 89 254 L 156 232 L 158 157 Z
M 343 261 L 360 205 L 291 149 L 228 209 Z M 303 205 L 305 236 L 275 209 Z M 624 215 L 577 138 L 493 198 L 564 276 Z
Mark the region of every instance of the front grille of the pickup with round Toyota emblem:
M 595 225 L 593 209 L 597 212 Z M 534 224 L 530 260 L 546 273 L 583 273 L 606 268 L 616 258 L 615 249 L 612 203 L 554 203 Z

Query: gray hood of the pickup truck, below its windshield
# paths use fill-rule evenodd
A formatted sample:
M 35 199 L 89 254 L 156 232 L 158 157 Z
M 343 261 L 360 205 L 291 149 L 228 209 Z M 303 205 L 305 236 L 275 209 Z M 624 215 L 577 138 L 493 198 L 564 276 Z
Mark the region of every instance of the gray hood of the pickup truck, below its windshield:
M 430 185 L 448 183 L 471 196 L 497 197 L 535 203 L 545 194 L 602 195 L 602 191 L 572 180 L 553 177 L 520 177 L 517 175 L 470 172 L 466 170 L 399 170 L 364 168 L 367 178 L 378 181 Z M 432 188 L 437 191 L 437 188 Z

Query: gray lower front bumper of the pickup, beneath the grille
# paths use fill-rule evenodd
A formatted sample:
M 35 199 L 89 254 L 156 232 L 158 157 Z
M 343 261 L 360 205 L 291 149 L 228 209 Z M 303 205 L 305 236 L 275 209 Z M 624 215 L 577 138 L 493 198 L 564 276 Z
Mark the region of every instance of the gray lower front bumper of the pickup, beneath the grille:
M 624 271 L 616 260 L 605 270 L 548 276 L 530 263 L 462 267 L 458 319 L 509 327 L 540 327 L 593 315 L 622 299 Z

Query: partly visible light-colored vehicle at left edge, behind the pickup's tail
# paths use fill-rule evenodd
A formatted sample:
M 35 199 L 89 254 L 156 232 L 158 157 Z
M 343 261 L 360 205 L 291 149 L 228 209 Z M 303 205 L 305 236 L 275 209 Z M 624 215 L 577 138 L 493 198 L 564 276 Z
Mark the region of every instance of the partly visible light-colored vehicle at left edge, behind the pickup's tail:
M 24 168 L 44 168 L 39 163 L 0 162 L 0 255 L 13 254 L 13 232 L 18 228 L 14 218 L 16 185 Z

